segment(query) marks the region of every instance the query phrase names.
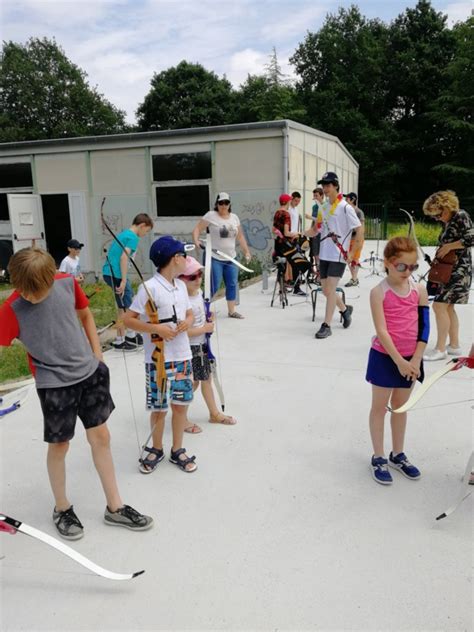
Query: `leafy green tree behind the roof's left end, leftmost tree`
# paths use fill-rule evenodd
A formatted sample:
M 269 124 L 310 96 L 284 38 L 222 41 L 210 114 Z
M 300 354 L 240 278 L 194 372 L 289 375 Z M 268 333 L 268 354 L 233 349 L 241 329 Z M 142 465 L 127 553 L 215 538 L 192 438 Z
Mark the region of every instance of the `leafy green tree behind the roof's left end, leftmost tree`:
M 0 66 L 0 140 L 110 134 L 126 129 L 124 112 L 86 80 L 53 40 L 5 42 Z

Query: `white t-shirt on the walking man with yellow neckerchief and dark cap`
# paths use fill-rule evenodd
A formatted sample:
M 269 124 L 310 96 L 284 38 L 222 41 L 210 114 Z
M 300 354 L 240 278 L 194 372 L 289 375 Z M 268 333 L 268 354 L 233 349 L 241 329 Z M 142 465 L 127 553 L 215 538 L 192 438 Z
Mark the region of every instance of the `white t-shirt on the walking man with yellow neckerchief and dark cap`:
M 323 217 L 319 258 L 323 261 L 343 262 L 344 258 L 333 240 L 330 237 L 328 239 L 324 239 L 324 237 L 329 232 L 335 233 L 338 235 L 338 241 L 344 250 L 348 251 L 352 231 L 354 228 L 358 228 L 361 223 L 352 206 L 345 200 L 339 202 L 332 215 L 329 213 L 331 206 L 327 200 L 319 207 Z

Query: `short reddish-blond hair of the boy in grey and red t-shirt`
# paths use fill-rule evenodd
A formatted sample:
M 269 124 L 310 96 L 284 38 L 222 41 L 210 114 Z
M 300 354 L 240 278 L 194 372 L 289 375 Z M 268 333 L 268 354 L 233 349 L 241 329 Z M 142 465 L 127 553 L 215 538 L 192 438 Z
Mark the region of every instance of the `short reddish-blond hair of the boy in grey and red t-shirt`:
M 21 294 L 42 294 L 54 283 L 56 263 L 41 248 L 23 248 L 10 259 L 8 272 L 13 286 Z

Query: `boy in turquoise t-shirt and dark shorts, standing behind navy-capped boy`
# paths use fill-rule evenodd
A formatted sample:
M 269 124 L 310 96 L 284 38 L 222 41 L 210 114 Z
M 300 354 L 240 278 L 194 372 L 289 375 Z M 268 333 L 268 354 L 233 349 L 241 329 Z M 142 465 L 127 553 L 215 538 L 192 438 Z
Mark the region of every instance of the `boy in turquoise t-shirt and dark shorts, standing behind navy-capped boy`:
M 123 230 L 117 236 L 117 239 L 123 245 L 128 255 L 133 257 L 138 248 L 140 238 L 144 237 L 152 228 L 153 220 L 151 217 L 146 213 L 139 213 L 133 220 L 130 228 Z M 130 307 L 133 299 L 132 286 L 129 279 L 127 279 L 128 265 L 127 254 L 114 241 L 106 254 L 102 276 L 107 285 L 114 290 L 118 310 L 123 311 Z M 117 318 L 117 337 L 112 346 L 120 351 L 132 351 L 139 344 L 143 344 L 142 337 L 136 335 L 133 331 L 126 332 L 122 319 L 120 317 Z

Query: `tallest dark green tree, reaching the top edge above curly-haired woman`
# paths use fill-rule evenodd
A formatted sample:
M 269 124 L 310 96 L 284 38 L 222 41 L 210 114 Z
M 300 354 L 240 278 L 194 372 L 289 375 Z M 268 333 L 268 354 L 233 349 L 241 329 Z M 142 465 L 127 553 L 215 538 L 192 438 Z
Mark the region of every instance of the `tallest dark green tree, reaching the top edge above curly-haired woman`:
M 454 50 L 446 17 L 428 0 L 419 0 L 390 25 L 388 101 L 396 141 L 386 158 L 398 165 L 398 194 L 404 199 L 426 196 L 441 184 L 433 167 L 442 150 L 433 142 L 437 129 L 430 113 L 445 90 Z

